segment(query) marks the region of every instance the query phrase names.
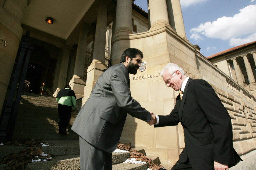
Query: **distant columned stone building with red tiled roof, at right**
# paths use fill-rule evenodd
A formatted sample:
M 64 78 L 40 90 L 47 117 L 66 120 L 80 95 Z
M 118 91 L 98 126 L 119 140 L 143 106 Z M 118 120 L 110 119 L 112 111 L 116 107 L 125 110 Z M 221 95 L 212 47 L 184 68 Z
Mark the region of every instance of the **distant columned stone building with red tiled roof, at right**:
M 206 58 L 256 97 L 256 41 L 229 48 Z

